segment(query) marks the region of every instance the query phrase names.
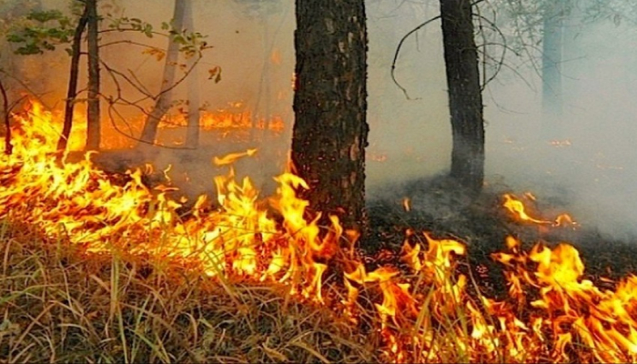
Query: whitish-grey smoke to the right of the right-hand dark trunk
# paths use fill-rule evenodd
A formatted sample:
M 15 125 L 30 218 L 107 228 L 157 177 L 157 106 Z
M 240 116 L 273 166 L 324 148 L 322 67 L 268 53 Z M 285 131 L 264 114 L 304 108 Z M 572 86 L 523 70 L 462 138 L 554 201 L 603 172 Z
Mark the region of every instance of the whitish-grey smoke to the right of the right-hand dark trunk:
M 488 173 L 561 197 L 582 225 L 612 238 L 637 234 L 635 35 L 634 25 L 605 19 L 565 31 L 559 140 L 541 137 L 551 130 L 544 130 L 541 96 L 530 87 L 493 84 L 486 101 Z M 541 89 L 541 79 L 527 74 Z

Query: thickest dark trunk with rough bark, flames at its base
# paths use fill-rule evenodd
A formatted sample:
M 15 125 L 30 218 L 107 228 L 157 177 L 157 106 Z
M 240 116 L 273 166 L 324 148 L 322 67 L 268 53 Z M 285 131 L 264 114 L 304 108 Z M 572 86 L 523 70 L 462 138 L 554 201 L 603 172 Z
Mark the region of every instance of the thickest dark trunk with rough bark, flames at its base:
M 297 0 L 292 162 L 322 222 L 364 232 L 367 28 L 363 0 Z

